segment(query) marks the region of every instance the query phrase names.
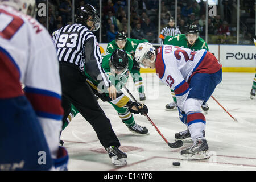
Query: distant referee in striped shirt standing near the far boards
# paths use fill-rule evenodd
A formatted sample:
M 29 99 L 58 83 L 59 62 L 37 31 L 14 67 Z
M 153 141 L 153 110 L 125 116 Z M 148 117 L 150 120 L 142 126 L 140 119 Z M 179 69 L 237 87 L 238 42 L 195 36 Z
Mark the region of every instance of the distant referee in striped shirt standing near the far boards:
M 162 31 L 160 32 L 159 41 L 161 46 L 163 46 L 164 38 L 166 38 L 166 36 L 175 36 L 177 34 L 181 34 L 181 32 L 179 28 L 175 27 L 174 17 L 171 17 L 168 25 L 163 27 Z

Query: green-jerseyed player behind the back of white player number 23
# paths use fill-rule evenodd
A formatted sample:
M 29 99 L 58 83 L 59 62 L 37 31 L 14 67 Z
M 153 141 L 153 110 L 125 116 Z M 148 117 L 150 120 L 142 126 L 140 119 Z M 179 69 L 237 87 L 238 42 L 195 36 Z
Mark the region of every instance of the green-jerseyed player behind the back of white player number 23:
M 174 45 L 184 48 L 189 48 L 192 51 L 198 51 L 201 49 L 208 49 L 207 43 L 204 41 L 204 39 L 200 38 L 199 36 L 199 30 L 197 29 L 196 25 L 191 24 L 187 32 L 185 34 L 178 34 L 176 36 L 166 36 L 164 39 L 164 45 Z M 174 94 L 174 90 L 171 90 L 172 98 L 174 102 L 171 102 L 170 104 L 166 105 L 166 110 L 174 110 L 177 109 L 177 100 L 176 96 Z M 207 104 L 203 104 L 201 108 L 207 113 L 209 110 L 209 107 Z

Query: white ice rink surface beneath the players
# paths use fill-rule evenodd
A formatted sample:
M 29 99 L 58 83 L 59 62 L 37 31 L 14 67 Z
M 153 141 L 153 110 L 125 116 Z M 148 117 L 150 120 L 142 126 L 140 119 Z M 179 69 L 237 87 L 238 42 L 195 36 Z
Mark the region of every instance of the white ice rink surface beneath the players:
M 121 150 L 127 154 L 127 166 L 113 166 L 108 154 L 101 146 L 96 133 L 78 114 L 63 131 L 61 139 L 69 152 L 68 169 L 84 171 L 172 171 L 172 170 L 256 170 L 256 99 L 250 99 L 250 90 L 255 73 L 223 73 L 221 84 L 213 97 L 234 117 L 235 122 L 220 105 L 209 98 L 209 111 L 205 115 L 205 135 L 212 155 L 207 160 L 181 160 L 183 147 L 170 148 L 160 137 L 144 115 L 134 115 L 135 121 L 146 126 L 149 135 L 131 133 L 108 102 L 99 101 L 112 123 L 113 130 L 121 142 Z M 177 110 L 166 111 L 164 107 L 172 101 L 170 88 L 159 81 L 155 73 L 142 73 L 146 90 L 148 116 L 169 142 L 174 134 L 185 130 Z M 133 81 L 129 78 L 127 88 L 138 99 Z M 124 93 L 126 93 L 124 91 Z M 127 94 L 127 96 L 129 96 Z M 180 162 L 179 167 L 172 162 Z

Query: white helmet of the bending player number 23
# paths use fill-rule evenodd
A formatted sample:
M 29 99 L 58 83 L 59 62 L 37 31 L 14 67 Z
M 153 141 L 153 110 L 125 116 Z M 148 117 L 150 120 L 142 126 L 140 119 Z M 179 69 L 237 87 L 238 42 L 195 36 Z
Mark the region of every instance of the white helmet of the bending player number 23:
M 152 44 L 144 42 L 139 44 L 136 48 L 134 58 L 139 64 L 142 64 L 143 59 L 148 59 L 151 63 L 153 63 L 155 60 L 152 61 L 150 59 L 152 55 L 155 55 L 155 48 Z

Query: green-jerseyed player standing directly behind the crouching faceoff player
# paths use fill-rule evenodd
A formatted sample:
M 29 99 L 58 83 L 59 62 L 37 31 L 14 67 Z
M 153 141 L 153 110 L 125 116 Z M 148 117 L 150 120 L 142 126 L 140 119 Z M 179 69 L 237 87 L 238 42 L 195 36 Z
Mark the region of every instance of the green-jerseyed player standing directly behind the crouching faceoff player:
M 115 49 L 119 48 L 131 53 L 131 55 L 134 55 L 137 46 L 143 42 L 148 42 L 148 40 L 130 39 L 127 38 L 125 32 L 121 31 L 118 32 L 117 36 L 115 36 L 115 40 L 108 44 L 106 53 L 112 53 L 115 51 Z M 139 92 L 139 101 L 144 103 L 146 96 L 144 94 L 144 85 L 142 82 L 140 69 L 141 67 L 137 61 L 134 60 L 133 69 L 131 69 L 131 76 L 133 77 L 133 82 Z

